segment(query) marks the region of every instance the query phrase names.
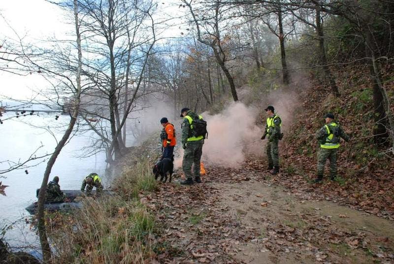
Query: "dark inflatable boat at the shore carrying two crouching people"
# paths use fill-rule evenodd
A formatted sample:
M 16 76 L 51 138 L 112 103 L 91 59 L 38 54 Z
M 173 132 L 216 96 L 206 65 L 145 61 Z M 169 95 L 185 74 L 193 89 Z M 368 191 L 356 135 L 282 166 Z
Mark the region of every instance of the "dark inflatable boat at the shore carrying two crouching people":
M 37 191 L 36 191 L 36 197 L 38 197 L 38 192 L 39 192 L 39 189 L 37 189 Z M 84 194 L 82 191 L 80 191 L 80 190 L 62 190 L 62 192 L 64 192 L 66 194 L 66 198 L 69 200 L 69 202 L 45 203 L 44 209 L 48 210 L 48 211 L 58 211 L 58 210 L 69 211 L 71 209 L 82 208 L 83 205 L 82 205 L 81 201 L 74 201 L 75 198 L 81 197 Z M 96 191 L 92 191 L 91 196 L 95 196 L 95 195 L 96 195 Z M 101 195 L 113 196 L 114 192 L 103 190 Z M 38 206 L 38 203 L 34 202 L 31 205 L 29 205 L 28 207 L 26 207 L 26 210 L 30 214 L 35 214 L 35 212 L 37 211 L 37 206 Z

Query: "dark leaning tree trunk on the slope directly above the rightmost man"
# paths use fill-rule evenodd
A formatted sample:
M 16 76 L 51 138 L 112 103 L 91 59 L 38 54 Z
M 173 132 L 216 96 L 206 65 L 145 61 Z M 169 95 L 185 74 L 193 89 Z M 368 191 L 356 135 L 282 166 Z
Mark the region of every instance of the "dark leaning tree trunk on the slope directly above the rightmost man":
M 332 76 L 331 71 L 328 67 L 326 48 L 324 45 L 324 32 L 323 32 L 323 26 L 321 24 L 321 17 L 320 17 L 320 6 L 318 4 L 316 4 L 316 33 L 319 37 L 320 63 L 322 63 L 323 65 L 325 79 L 328 80 L 329 86 L 331 87 L 331 92 L 334 95 L 334 97 L 339 97 L 340 93 L 338 87 L 336 86 L 335 79 Z

